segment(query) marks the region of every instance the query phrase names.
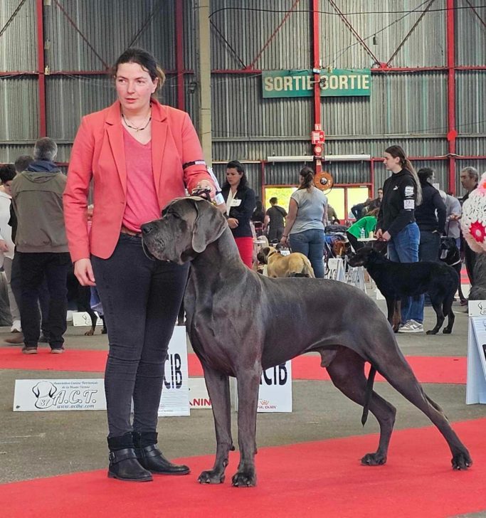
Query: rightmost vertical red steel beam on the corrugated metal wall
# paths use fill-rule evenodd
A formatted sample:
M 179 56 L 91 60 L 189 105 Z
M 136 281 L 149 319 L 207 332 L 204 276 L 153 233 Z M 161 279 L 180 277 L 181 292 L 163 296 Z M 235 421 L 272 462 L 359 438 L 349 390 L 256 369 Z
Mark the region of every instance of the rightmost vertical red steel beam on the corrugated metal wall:
M 448 112 L 448 152 L 449 152 L 449 192 L 455 194 L 455 43 L 454 43 L 454 0 L 447 0 L 447 112 Z

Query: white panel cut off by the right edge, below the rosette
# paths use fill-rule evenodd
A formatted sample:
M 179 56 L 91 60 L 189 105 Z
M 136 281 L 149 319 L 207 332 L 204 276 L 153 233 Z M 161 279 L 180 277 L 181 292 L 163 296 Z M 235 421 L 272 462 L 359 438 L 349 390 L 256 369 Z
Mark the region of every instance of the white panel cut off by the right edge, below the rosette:
M 466 404 L 486 403 L 486 300 L 469 301 Z

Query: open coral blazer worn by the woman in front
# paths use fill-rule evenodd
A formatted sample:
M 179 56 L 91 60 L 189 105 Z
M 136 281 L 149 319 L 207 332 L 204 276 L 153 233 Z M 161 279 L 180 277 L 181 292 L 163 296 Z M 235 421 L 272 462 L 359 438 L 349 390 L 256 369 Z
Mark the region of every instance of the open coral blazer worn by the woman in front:
M 194 162 L 202 162 L 194 164 Z M 186 165 L 183 168 L 184 164 Z M 196 130 L 186 112 L 152 100 L 152 169 L 159 208 L 185 196 L 198 181 L 212 182 Z M 88 236 L 88 191 L 95 208 Z M 127 171 L 120 102 L 83 117 L 70 155 L 63 205 L 71 259 L 107 259 L 117 245 L 127 203 Z

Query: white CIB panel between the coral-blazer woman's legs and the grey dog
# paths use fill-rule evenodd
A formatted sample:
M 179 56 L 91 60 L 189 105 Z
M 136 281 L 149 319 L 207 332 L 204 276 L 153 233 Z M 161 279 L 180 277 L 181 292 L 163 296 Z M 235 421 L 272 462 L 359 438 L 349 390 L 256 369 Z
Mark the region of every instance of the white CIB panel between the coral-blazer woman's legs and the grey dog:
M 184 326 L 174 327 L 174 333 L 169 342 L 158 415 L 160 417 L 190 415 L 189 366 Z

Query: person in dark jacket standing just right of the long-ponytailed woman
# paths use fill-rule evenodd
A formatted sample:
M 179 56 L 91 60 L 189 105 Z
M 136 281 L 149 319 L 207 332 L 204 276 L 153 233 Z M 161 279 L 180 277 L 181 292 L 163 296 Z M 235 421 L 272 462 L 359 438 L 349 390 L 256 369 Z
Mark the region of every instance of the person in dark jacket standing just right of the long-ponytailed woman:
M 422 203 L 415 209 L 415 220 L 421 231 L 418 247 L 419 261 L 438 261 L 440 236 L 445 234 L 445 214 L 447 209 L 440 192 L 432 185 L 434 171 L 423 167 L 417 171 L 422 187 Z

